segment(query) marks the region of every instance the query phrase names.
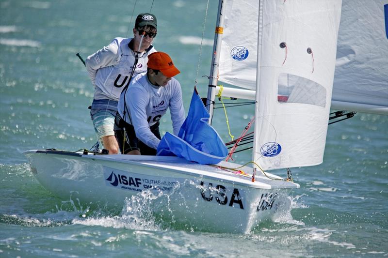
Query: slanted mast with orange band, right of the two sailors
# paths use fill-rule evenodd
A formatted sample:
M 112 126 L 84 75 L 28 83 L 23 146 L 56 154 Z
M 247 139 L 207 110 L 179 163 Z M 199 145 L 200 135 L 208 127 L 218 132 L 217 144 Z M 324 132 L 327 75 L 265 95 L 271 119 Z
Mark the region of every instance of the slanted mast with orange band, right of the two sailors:
M 215 87 L 218 81 L 218 67 L 221 53 L 222 34 L 224 32 L 224 3 L 226 0 L 218 1 L 218 12 L 217 12 L 217 24 L 214 31 L 214 44 L 213 44 L 213 56 L 211 58 L 210 76 L 209 76 L 209 88 L 208 98 L 206 101 L 206 108 L 209 111 L 209 124 L 213 118 L 213 107 L 215 98 Z

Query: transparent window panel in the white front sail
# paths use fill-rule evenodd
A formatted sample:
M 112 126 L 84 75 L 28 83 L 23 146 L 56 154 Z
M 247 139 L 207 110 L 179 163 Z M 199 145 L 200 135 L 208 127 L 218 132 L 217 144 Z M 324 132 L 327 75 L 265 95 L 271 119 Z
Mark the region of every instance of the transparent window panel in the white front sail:
M 278 103 L 300 103 L 326 106 L 326 89 L 307 78 L 292 74 L 280 74 L 277 87 Z

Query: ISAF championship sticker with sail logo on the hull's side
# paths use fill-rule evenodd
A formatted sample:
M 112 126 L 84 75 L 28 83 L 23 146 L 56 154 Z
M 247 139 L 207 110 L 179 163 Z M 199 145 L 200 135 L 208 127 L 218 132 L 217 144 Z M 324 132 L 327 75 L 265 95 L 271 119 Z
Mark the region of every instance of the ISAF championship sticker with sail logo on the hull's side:
M 145 176 L 111 167 L 103 167 L 105 185 L 140 192 L 145 189 L 172 190 L 178 184 L 173 178 Z

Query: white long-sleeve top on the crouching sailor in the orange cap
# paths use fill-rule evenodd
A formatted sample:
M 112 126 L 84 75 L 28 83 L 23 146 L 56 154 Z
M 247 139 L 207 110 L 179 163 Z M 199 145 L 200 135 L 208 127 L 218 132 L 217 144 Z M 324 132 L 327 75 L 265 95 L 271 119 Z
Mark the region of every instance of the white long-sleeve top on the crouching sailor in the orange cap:
M 118 102 L 120 116 L 133 125 L 136 137 L 154 149 L 158 148 L 160 140 L 154 136 L 149 127 L 161 119 L 168 107 L 170 107 L 174 135 L 178 135 L 185 119 L 182 90 L 178 80 L 171 78 L 166 86 L 157 87 L 149 82 L 146 72 L 131 81 L 125 96 L 123 92 Z

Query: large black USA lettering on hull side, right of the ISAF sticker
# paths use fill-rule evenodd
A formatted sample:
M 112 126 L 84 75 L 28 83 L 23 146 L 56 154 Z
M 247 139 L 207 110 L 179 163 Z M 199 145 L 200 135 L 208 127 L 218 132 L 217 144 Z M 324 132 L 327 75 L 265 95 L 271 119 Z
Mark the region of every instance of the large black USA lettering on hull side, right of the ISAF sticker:
M 213 183 L 201 181 L 200 183 L 201 197 L 205 201 L 213 202 L 214 204 L 228 205 L 234 208 L 244 209 L 244 191 L 242 189 L 229 187 L 224 185 L 213 186 Z

